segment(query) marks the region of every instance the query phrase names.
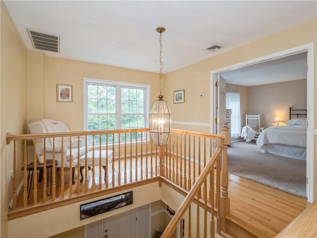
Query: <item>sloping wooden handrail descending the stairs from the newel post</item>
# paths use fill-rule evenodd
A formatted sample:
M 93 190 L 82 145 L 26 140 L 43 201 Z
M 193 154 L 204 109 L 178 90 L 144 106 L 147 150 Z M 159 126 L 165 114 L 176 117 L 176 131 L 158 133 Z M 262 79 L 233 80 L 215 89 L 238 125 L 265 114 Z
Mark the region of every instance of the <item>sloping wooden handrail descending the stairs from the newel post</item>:
M 191 202 L 193 201 L 194 197 L 196 196 L 198 190 L 201 188 L 202 184 L 204 183 L 204 181 L 207 179 L 208 175 L 210 174 L 210 171 L 213 169 L 215 162 L 219 159 L 220 154 L 222 152 L 222 147 L 221 147 L 222 143 L 221 142 L 219 143 L 219 139 L 221 141 L 224 140 L 223 137 L 218 137 L 217 148 L 216 148 L 215 152 L 213 153 L 213 155 L 211 156 L 210 161 L 207 163 L 207 165 L 203 169 L 201 175 L 198 177 L 195 184 L 188 192 L 188 195 L 186 196 L 186 198 L 184 199 L 184 201 L 182 202 L 182 204 L 180 205 L 180 207 L 176 211 L 174 217 L 172 218 L 172 220 L 170 221 L 170 223 L 166 227 L 166 229 L 163 232 L 161 237 L 169 238 L 172 236 L 172 233 L 174 232 L 176 226 L 180 222 L 181 218 L 184 216 L 187 209 L 189 208 L 189 206 L 190 206 Z

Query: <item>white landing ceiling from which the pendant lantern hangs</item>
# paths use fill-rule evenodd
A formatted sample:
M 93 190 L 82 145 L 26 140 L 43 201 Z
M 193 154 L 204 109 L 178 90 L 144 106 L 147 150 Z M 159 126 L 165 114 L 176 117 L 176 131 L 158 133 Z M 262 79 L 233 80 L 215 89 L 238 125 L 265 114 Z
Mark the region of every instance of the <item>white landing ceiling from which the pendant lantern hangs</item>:
M 26 28 L 60 35 L 53 57 L 158 72 L 165 27 L 163 73 L 317 17 L 316 0 L 4 2 L 28 49 Z

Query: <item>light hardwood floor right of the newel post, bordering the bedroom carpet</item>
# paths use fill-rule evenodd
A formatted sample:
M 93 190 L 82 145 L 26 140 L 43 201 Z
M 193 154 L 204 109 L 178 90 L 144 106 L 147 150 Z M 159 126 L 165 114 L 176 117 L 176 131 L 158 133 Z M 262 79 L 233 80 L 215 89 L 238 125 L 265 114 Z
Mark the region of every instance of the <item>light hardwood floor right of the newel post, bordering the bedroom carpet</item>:
M 259 238 L 275 237 L 310 203 L 306 199 L 229 174 L 229 219 Z

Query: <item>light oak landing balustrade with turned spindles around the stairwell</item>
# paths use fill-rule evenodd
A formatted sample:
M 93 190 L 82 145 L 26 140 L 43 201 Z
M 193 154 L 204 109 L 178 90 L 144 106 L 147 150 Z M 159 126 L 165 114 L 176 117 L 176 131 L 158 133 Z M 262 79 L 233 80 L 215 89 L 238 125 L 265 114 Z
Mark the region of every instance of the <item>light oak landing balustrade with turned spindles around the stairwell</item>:
M 8 219 L 50 209 L 59 204 L 65 205 L 74 199 L 79 201 L 97 197 L 101 192 L 114 188 L 138 186 L 159 178 L 190 190 L 192 197 L 187 197 L 185 202 L 204 204 L 202 206 L 205 211 L 211 211 L 212 219 L 214 216 L 217 219 L 224 216 L 226 212 L 221 215 L 219 211 L 221 204 L 228 207 L 228 185 L 227 175 L 222 175 L 222 182 L 220 180 L 219 154 L 222 154 L 222 172 L 226 173 L 226 127 L 223 131 L 225 135 L 173 129 L 166 147 L 154 146 L 148 132 L 149 128 L 23 135 L 8 133 L 8 151 L 11 151 L 13 159 L 13 202 Z M 53 145 L 52 148 L 47 145 L 49 142 Z M 79 160 L 68 161 L 64 153 L 57 159 L 58 151 L 63 151 L 67 144 L 68 149 L 75 150 L 77 154 L 84 147 L 84 154 Z M 40 146 L 43 151 L 39 154 L 36 152 Z M 28 158 L 29 150 L 33 150 L 31 158 Z M 108 153 L 102 158 L 100 155 L 103 151 L 112 151 L 113 159 Z M 50 165 L 50 153 L 52 172 L 43 169 Z M 43 164 L 37 163 L 39 155 L 44 157 Z M 93 159 L 89 160 L 91 155 Z M 55 161 L 60 163 L 55 165 Z M 30 163 L 33 163 L 31 170 Z M 216 169 L 211 169 L 213 166 Z M 83 178 L 80 176 L 81 167 L 84 167 Z M 90 167 L 92 170 L 89 170 Z M 41 168 L 43 182 L 38 181 L 41 173 L 36 173 Z M 35 175 L 31 186 L 29 185 L 30 191 L 28 179 L 32 176 L 28 174 L 29 171 L 34 171 Z M 228 212 L 228 208 L 226 209 Z M 206 223 L 206 220 L 202 223 Z

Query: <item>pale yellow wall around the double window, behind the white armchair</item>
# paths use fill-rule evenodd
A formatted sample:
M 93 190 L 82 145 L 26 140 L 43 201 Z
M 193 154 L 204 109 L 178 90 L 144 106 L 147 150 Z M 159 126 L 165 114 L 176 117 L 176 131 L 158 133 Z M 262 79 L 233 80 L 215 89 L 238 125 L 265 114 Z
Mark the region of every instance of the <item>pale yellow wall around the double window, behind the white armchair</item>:
M 64 121 L 71 131 L 83 130 L 84 77 L 149 84 L 151 103 L 159 95 L 157 73 L 48 57 L 34 51 L 29 51 L 28 55 L 28 122 L 56 119 Z M 72 103 L 56 102 L 56 84 L 73 85 Z

